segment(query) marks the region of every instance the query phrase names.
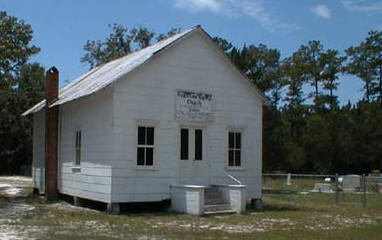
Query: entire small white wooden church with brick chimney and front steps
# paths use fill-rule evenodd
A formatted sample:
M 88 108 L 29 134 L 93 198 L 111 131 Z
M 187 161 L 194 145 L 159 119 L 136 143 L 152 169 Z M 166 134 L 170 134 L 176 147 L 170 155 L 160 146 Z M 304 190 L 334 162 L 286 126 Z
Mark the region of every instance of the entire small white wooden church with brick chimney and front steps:
M 170 199 L 174 211 L 198 215 L 240 213 L 261 199 L 267 100 L 200 26 L 60 90 L 52 68 L 46 91 L 24 115 L 34 119 L 34 187 L 48 197 L 112 212 Z

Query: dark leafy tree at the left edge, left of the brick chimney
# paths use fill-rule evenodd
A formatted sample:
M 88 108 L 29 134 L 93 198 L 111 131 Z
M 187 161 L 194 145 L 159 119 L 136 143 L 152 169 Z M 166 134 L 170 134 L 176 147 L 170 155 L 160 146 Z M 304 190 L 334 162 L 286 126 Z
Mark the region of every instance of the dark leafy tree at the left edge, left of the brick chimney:
M 43 68 L 29 64 L 40 49 L 30 25 L 0 12 L 0 174 L 20 173 L 32 156 L 32 120 L 21 113 L 42 99 Z

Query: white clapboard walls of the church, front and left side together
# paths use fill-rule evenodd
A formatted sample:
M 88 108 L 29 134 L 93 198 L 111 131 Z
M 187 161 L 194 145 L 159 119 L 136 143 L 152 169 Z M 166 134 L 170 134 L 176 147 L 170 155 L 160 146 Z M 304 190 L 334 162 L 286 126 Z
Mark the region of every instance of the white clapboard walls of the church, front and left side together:
M 170 198 L 170 185 L 234 184 L 226 171 L 247 185 L 248 197 L 261 198 L 263 99 L 246 81 L 202 30 L 195 30 L 109 87 L 60 105 L 59 191 L 102 202 L 160 201 Z M 176 120 L 177 90 L 213 94 L 213 121 Z M 44 114 L 34 115 L 33 179 L 39 188 Z M 149 168 L 136 164 L 139 124 L 155 126 Z M 181 126 L 204 129 L 202 161 L 180 161 Z M 76 129 L 82 131 L 79 167 L 73 165 Z M 240 169 L 227 167 L 229 129 L 243 132 Z

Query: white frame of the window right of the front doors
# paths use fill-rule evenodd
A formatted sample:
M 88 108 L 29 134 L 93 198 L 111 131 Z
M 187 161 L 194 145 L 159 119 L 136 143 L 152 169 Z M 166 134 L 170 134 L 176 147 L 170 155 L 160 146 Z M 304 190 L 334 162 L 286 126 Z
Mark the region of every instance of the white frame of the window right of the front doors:
M 244 162 L 243 162 L 243 129 L 238 129 L 238 128 L 227 128 L 227 142 L 226 142 L 226 154 L 227 154 L 227 160 L 226 160 L 226 166 L 228 169 L 233 169 L 233 170 L 242 170 L 244 169 Z M 234 134 L 234 139 L 233 139 L 233 148 L 230 147 L 229 145 L 229 135 L 230 133 Z M 237 148 L 236 146 L 236 134 L 240 134 L 240 147 Z M 230 151 L 233 151 L 233 165 L 230 165 Z M 239 165 L 237 165 L 237 159 L 236 159 L 236 151 L 240 152 L 240 159 L 239 159 Z

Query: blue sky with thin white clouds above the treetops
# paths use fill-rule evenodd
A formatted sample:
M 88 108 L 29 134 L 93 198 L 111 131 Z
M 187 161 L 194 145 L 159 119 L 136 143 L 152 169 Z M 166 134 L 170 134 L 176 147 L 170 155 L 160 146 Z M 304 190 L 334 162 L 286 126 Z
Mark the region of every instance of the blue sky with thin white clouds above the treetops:
M 382 1 L 375 0 L 0 0 L 0 10 L 31 24 L 41 53 L 33 61 L 55 65 L 61 82 L 86 72 L 86 40 L 102 40 L 109 23 L 154 32 L 197 24 L 237 46 L 264 43 L 288 56 L 309 40 L 343 50 L 372 29 L 382 30 Z M 342 103 L 361 97 L 360 80 L 341 76 Z

